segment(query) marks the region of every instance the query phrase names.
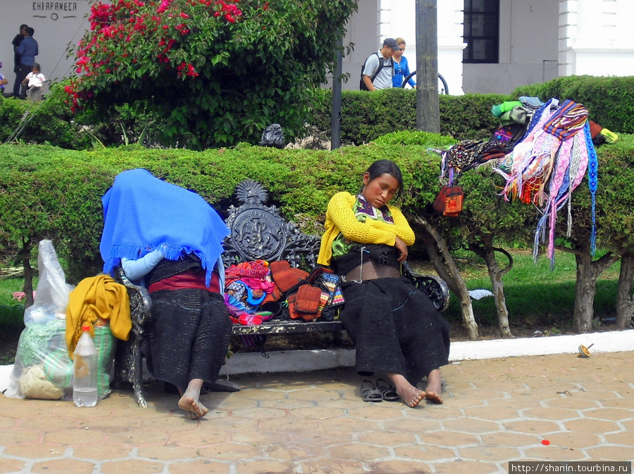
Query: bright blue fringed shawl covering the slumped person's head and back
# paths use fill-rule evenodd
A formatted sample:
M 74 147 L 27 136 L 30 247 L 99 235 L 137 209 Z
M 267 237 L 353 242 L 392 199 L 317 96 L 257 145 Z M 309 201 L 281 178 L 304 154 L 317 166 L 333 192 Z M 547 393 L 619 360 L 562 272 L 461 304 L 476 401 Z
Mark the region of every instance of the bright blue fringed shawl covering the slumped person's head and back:
M 101 202 L 104 273 L 110 274 L 122 258 L 137 260 L 164 246 L 167 260 L 178 260 L 182 252 L 197 255 L 209 286 L 229 229 L 201 196 L 146 169 L 131 169 L 116 177 Z

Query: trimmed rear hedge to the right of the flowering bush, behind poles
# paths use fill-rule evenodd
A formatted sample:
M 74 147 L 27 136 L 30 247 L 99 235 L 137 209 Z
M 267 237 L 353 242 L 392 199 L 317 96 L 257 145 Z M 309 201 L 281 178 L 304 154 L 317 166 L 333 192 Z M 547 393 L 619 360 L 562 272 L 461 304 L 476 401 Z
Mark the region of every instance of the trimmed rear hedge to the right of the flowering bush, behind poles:
M 440 96 L 440 133 L 456 140 L 488 138 L 497 127 L 491 107 L 519 96 L 542 101 L 569 98 L 588 108 L 590 118 L 617 134 L 634 134 L 634 77 L 560 77 L 544 84 L 518 87 L 504 94 Z M 330 136 L 332 93 L 318 92 L 313 109 L 313 132 Z M 389 132 L 416 130 L 416 91 L 385 89 L 342 91 L 342 143 L 368 143 Z

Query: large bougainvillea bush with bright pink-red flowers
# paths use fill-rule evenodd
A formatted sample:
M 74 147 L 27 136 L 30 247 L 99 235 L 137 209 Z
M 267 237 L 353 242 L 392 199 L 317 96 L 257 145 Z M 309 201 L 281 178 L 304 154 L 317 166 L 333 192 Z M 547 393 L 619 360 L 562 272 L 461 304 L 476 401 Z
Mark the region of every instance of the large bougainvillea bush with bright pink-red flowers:
M 85 123 L 120 105 L 156 117 L 164 145 L 256 143 L 299 134 L 335 64 L 356 0 L 96 1 L 75 49 L 68 104 Z

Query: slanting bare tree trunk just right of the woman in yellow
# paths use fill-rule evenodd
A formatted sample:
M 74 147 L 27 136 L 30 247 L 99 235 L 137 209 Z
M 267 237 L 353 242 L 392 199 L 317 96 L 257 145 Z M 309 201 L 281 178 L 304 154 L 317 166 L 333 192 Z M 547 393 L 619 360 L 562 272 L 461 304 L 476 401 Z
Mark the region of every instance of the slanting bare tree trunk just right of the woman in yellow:
M 425 247 L 427 248 L 430 260 L 440 278 L 445 280 L 447 286 L 459 297 L 460 312 L 462 314 L 464 327 L 468 332 L 469 338 L 471 340 L 477 340 L 479 337 L 478 324 L 475 323 L 475 318 L 473 317 L 471 296 L 469 296 L 464 280 L 460 276 L 460 270 L 456 262 L 454 262 L 452 255 L 449 253 L 445 239 L 442 238 L 440 233 L 438 233 L 426 219 L 423 219 L 423 217 L 412 215 L 408 217 L 414 220 L 414 222 L 421 224 L 423 229 L 425 229 Z

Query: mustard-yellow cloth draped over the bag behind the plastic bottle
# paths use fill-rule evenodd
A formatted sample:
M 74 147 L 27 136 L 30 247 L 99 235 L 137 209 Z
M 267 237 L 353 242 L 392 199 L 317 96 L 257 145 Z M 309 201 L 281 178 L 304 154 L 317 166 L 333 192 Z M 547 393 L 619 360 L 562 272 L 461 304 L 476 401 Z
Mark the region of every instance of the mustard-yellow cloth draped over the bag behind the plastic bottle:
M 132 329 L 128 290 L 104 274 L 84 278 L 68 297 L 66 345 L 71 359 L 82 335 L 82 324 L 89 323 L 90 335 L 94 336 L 94 324 L 99 318 L 110 321 L 114 337 L 128 340 Z

